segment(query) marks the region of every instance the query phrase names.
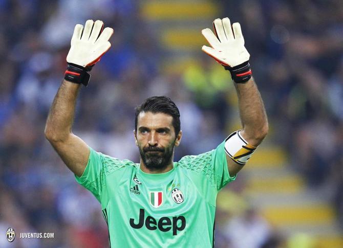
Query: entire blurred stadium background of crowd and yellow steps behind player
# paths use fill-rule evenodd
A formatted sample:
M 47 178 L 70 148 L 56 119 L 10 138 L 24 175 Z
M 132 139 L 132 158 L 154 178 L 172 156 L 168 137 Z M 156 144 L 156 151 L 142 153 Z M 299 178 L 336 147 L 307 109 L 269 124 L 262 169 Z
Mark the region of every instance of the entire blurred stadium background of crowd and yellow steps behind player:
M 230 76 L 201 52 L 217 17 L 240 22 L 270 132 L 218 197 L 216 247 L 343 247 L 343 2 L 0 1 L 0 247 L 106 247 L 100 205 L 45 140 L 75 24 L 101 19 L 112 48 L 82 88 L 74 132 L 139 161 L 134 108 L 180 108 L 175 160 L 240 128 Z M 6 230 L 54 239 L 6 240 Z

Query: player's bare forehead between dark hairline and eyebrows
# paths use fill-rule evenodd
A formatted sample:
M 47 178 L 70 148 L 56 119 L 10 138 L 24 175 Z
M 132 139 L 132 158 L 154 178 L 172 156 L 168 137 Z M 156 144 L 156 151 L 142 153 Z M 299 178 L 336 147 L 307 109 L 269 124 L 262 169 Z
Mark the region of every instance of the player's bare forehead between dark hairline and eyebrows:
M 173 128 L 173 117 L 164 113 L 140 112 L 137 119 L 137 128 L 144 126 L 151 129 L 160 127 Z

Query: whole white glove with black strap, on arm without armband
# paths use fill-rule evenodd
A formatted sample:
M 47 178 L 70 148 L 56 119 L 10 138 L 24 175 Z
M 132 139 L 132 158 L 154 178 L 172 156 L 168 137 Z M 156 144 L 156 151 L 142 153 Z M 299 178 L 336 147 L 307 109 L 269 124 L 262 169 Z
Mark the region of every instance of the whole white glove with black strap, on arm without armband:
M 71 48 L 67 56 L 66 80 L 88 85 L 91 75 L 87 72 L 92 70 L 93 65 L 111 47 L 109 39 L 113 34 L 113 29 L 105 28 L 102 31 L 102 28 L 101 20 L 95 22 L 87 20 L 84 28 L 80 24 L 75 26 Z

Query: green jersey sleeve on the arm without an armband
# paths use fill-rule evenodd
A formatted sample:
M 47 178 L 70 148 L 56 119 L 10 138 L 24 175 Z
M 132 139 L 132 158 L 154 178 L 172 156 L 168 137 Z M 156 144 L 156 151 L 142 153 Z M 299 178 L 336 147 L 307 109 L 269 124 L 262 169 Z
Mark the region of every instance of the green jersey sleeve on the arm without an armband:
M 101 171 L 103 170 L 103 154 L 96 152 L 90 148 L 90 155 L 86 168 L 83 174 L 78 177 L 75 175 L 76 181 L 84 188 L 88 189 L 100 201 L 102 184 Z

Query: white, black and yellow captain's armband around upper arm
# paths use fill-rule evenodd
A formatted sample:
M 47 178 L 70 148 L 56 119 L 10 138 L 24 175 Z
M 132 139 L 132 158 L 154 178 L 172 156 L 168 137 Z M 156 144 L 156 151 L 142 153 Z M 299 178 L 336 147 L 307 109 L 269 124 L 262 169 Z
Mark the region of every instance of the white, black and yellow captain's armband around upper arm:
M 236 163 L 245 165 L 257 147 L 248 144 L 241 136 L 241 130 L 230 134 L 225 140 L 225 152 Z

